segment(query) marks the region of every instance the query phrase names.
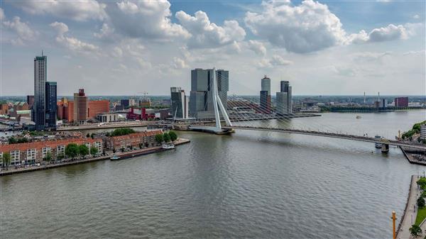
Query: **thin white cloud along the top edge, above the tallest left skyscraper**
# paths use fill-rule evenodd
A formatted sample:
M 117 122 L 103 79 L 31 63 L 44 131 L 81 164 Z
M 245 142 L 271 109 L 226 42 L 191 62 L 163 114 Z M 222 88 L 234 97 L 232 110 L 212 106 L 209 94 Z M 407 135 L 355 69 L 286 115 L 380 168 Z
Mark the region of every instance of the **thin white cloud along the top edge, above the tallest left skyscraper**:
M 31 14 L 51 14 L 60 18 L 70 18 L 75 21 L 87 21 L 89 19 L 103 20 L 106 18 L 105 4 L 99 4 L 95 0 L 79 1 L 18 1 L 14 3 L 23 11 Z

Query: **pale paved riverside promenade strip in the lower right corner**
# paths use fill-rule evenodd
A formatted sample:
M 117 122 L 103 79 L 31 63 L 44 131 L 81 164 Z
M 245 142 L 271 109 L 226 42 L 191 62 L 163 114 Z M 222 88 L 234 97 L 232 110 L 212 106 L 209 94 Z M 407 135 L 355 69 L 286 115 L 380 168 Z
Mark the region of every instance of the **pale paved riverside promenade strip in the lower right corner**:
M 417 196 L 419 191 L 417 189 L 417 176 L 411 176 L 410 189 L 408 189 L 408 199 L 407 204 L 405 204 L 405 209 L 403 212 L 402 220 L 398 225 L 396 230 L 396 238 L 398 239 L 407 239 L 410 238 L 410 227 L 415 223 L 415 218 L 417 216 Z

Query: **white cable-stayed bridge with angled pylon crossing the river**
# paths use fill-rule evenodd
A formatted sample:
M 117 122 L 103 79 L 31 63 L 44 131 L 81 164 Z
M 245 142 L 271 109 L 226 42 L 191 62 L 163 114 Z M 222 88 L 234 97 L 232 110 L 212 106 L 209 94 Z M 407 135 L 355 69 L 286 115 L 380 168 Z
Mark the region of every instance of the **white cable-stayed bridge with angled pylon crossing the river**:
M 220 77 L 220 76 L 219 76 Z M 213 69 L 213 74 L 210 75 L 209 89 L 207 91 L 211 94 L 213 112 L 211 121 L 197 121 L 188 126 L 191 130 L 202 130 L 211 133 L 223 134 L 231 133 L 234 130 L 258 130 L 270 131 L 278 133 L 295 133 L 300 135 L 312 135 L 328 138 L 338 138 L 343 140 L 356 140 L 368 143 L 376 143 L 382 145 L 382 150 L 388 150 L 388 145 L 403 146 L 426 150 L 426 145 L 417 143 L 391 140 L 382 138 L 380 136 L 369 137 L 368 134 L 355 135 L 353 133 L 342 132 L 332 125 L 324 125 L 317 123 L 315 118 L 308 125 L 295 123 L 292 121 L 296 115 L 295 113 L 277 114 L 271 112 L 271 109 L 265 109 L 258 102 L 251 99 L 246 99 L 239 96 L 227 96 L 226 91 L 222 90 L 222 84 L 218 84 L 218 75 L 216 70 Z M 219 78 L 219 81 L 223 79 Z M 221 94 L 223 94 L 221 96 Z M 226 106 L 224 106 L 222 99 L 226 96 Z M 251 107 L 256 106 L 258 112 L 253 112 Z M 276 121 L 278 125 L 272 126 L 271 119 Z M 222 122 L 224 125 L 222 126 Z M 310 128 L 317 128 L 318 130 L 311 130 Z

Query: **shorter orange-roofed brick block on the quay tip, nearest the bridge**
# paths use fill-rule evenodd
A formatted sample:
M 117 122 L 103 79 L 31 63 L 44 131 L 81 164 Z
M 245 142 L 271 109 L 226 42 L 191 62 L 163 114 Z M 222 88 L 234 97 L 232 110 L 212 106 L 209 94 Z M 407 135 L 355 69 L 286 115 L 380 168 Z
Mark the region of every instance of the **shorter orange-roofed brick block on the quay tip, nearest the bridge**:
M 122 148 L 136 148 L 141 145 L 150 147 L 155 144 L 155 135 L 162 134 L 162 130 L 150 130 L 129 135 L 109 137 L 106 139 L 107 148 L 120 150 Z

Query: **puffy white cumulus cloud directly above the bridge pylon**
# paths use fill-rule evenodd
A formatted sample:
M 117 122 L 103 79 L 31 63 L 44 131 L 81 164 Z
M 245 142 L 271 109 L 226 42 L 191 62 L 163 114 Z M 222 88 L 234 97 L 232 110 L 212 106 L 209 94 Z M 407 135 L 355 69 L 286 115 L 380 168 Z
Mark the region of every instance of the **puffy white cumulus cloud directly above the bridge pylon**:
M 224 21 L 223 26 L 217 26 L 203 11 L 197 11 L 195 16 L 178 11 L 175 16 L 191 34 L 187 43 L 189 48 L 216 48 L 244 40 L 246 36 L 246 31 L 237 21 Z

